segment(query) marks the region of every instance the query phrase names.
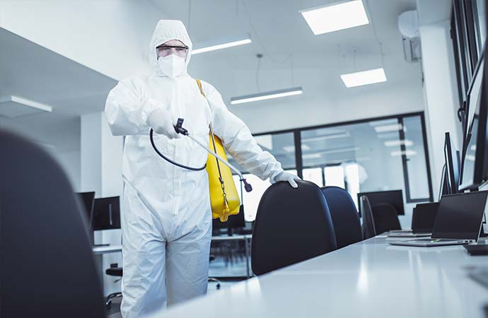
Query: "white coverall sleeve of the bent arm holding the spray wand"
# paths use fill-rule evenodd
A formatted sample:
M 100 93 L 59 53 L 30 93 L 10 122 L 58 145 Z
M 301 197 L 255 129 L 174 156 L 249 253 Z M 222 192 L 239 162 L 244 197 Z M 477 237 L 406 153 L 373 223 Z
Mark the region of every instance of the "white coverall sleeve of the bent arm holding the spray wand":
M 161 102 L 149 98 L 141 78 L 132 76 L 110 90 L 105 114 L 114 136 L 144 134 L 151 128 L 149 115 L 159 107 Z

